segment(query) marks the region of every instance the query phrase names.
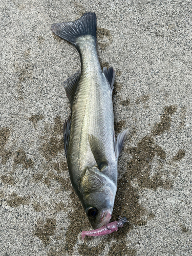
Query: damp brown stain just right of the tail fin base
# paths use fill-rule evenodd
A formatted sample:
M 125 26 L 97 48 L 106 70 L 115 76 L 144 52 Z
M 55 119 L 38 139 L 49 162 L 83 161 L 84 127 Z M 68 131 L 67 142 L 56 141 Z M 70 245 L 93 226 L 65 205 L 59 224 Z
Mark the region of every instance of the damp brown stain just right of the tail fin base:
M 97 27 L 97 45 L 104 50 L 107 46 L 110 46 L 113 41 L 113 37 L 109 29 Z

